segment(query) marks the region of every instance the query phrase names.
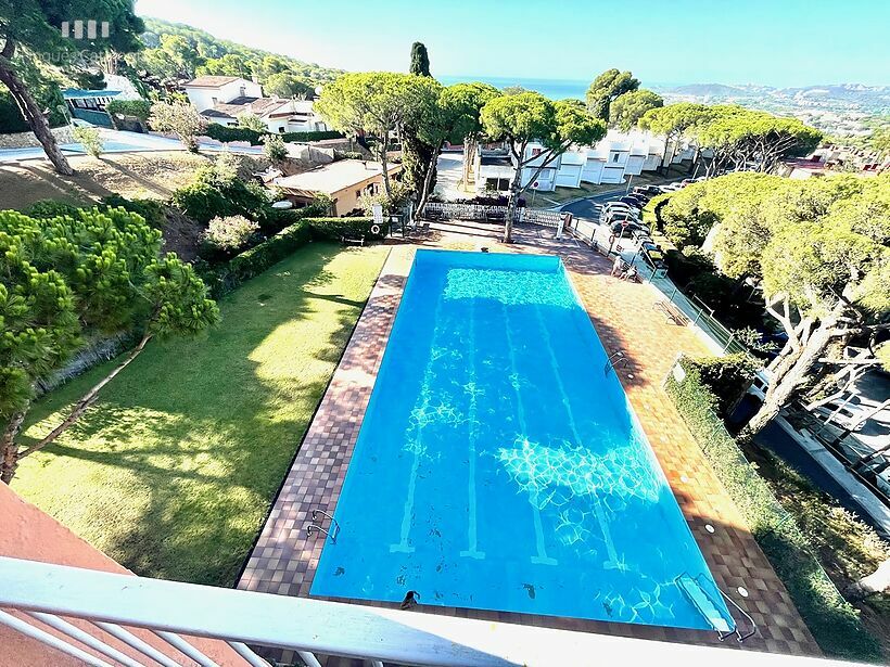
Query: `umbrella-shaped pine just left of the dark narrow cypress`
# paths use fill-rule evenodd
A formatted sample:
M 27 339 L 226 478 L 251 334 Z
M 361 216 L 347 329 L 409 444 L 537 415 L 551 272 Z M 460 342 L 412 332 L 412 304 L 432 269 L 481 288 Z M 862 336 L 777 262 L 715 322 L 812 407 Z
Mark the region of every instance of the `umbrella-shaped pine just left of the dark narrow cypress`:
M 383 187 L 391 196 L 386 151 L 391 134 L 402 136 L 433 113 L 442 87 L 431 78 L 392 72 L 345 74 L 326 86 L 316 108 L 338 130 L 377 138 Z

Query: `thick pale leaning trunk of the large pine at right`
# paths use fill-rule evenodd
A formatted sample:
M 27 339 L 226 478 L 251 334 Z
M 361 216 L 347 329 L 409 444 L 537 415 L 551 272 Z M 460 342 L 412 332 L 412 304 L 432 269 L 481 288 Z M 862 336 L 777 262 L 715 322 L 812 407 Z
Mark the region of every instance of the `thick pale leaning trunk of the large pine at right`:
M 783 359 L 780 364 L 775 367 L 773 376 L 770 380 L 766 398 L 756 414 L 742 428 L 739 434 L 740 439 L 750 440 L 763 431 L 766 424 L 778 415 L 779 410 L 797 395 L 805 384 L 810 371 L 834 337 L 834 325 L 835 323 L 831 321 L 821 322 L 818 329 L 813 331 L 806 344 L 800 350 L 791 352 Z

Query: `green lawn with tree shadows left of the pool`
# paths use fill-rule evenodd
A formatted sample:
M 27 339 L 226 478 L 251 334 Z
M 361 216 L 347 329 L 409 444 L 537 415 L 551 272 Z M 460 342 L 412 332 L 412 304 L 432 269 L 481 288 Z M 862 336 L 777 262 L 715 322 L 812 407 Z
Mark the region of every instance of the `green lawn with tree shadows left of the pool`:
M 310 244 L 207 335 L 152 342 L 13 488 L 137 574 L 233 583 L 386 253 Z M 106 371 L 39 401 L 26 437 Z

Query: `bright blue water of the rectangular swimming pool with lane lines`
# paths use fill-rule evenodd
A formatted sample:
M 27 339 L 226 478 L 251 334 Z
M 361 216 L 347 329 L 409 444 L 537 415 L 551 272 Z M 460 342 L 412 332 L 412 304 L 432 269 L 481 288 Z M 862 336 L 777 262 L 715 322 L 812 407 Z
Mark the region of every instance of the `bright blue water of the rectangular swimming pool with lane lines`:
M 419 251 L 314 595 L 709 628 L 728 613 L 557 257 Z

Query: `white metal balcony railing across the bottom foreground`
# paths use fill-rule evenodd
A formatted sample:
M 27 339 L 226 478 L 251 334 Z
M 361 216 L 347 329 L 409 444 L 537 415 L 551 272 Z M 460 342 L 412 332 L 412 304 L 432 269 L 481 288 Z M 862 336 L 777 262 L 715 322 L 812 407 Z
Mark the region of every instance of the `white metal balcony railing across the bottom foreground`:
M 66 628 L 71 624 L 60 616 L 87 619 L 131 649 L 138 649 L 145 657 L 152 657 L 152 646 L 122 626 L 150 629 L 185 654 L 180 659 L 166 654 L 154 655 L 152 659 L 162 665 L 215 664 L 179 634 L 228 642 L 256 667 L 266 663 L 245 644 L 295 650 L 303 662 L 312 666 L 319 665 L 315 654 L 360 658 L 376 665 L 385 662 L 455 667 L 618 664 L 808 667 L 829 664 L 799 656 L 212 588 L 2 556 L 0 607 L 24 612 L 61 632 L 64 639 L 7 612 L 0 612 L 0 623 L 89 665 L 103 667 L 110 663 L 93 657 L 85 647 L 99 651 L 114 664 L 131 666 L 142 663 L 111 646 L 100 647 L 100 640 L 78 628 L 71 631 Z M 140 646 L 139 642 L 144 645 Z

